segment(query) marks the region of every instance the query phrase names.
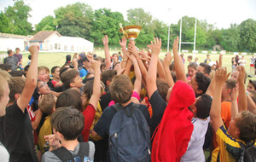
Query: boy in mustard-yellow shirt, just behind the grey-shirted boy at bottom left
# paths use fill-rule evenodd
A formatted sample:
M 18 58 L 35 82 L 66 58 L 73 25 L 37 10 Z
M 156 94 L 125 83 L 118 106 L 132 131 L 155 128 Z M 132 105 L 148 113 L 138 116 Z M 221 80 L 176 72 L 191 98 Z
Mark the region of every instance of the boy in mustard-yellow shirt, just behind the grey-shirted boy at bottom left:
M 55 112 L 55 101 L 56 97 L 52 94 L 43 95 L 41 100 L 38 103 L 38 107 L 40 107 L 43 113 L 46 113 L 48 116 L 44 120 L 44 124 L 39 131 L 38 136 L 38 146 L 42 154 L 45 151 L 48 151 L 49 147 L 45 143 L 44 136 L 48 136 L 52 134 L 51 124 L 50 124 L 50 116 Z M 45 145 L 46 144 L 46 145 Z

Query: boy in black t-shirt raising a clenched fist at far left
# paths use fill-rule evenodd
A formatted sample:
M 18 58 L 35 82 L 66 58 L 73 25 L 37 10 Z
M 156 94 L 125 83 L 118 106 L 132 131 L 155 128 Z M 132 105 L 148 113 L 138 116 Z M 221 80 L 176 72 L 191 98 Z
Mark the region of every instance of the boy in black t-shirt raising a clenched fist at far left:
M 32 54 L 31 68 L 27 72 L 25 82 L 22 78 L 19 84 L 15 84 L 13 80 L 9 81 L 11 97 L 6 116 L 1 121 L 3 144 L 9 151 L 10 161 L 38 161 L 34 151 L 32 123 L 26 107 L 37 86 L 39 47 L 32 45 L 28 50 Z

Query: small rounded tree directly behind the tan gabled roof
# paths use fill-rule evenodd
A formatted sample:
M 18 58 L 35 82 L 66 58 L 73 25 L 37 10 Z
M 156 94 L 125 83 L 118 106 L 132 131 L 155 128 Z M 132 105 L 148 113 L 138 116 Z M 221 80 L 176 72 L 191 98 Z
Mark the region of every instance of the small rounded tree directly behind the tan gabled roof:
M 37 25 L 36 32 L 39 31 L 55 31 L 57 26 L 57 21 L 51 15 L 44 17 Z

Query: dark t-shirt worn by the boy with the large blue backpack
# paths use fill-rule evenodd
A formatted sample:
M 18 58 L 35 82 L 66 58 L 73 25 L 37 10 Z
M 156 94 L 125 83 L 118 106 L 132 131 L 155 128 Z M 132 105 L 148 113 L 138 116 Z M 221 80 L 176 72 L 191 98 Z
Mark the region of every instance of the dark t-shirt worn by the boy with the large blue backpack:
M 133 104 L 134 103 L 131 102 L 129 105 L 127 105 L 125 107 L 132 107 Z M 145 105 L 140 105 L 139 110 L 143 113 L 145 119 L 147 120 L 148 126 L 150 126 L 150 116 L 148 113 L 148 108 Z M 94 129 L 93 129 L 96 131 L 96 133 L 99 136 L 102 136 L 102 137 L 108 136 L 109 127 L 110 127 L 111 121 L 112 121 L 115 113 L 117 113 L 117 112 L 114 109 L 114 107 L 107 107 L 103 111 L 102 117 L 99 119 L 99 121 L 96 123 L 96 125 L 94 126 Z

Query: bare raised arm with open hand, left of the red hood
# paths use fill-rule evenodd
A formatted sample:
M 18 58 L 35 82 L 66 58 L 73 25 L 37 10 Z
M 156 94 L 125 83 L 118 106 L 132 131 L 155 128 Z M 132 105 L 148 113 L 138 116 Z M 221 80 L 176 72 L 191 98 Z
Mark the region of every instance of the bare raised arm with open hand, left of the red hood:
M 156 86 L 156 67 L 157 61 L 159 60 L 160 49 L 161 49 L 161 39 L 154 38 L 154 43 L 151 41 L 151 44 L 148 45 L 148 48 L 152 51 L 151 61 L 148 67 L 148 75 L 147 75 L 147 91 L 148 97 L 150 99 L 151 95 L 153 95 L 154 91 L 157 90 Z

